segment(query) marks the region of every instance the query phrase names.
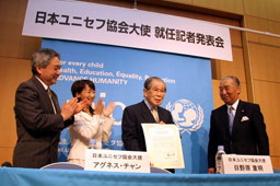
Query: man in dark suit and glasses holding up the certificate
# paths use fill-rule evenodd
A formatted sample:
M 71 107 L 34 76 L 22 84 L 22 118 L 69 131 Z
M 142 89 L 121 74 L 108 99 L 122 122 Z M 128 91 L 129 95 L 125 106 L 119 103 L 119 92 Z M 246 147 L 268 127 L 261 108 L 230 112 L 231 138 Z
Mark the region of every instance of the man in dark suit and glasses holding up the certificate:
M 151 77 L 144 82 L 144 100 L 125 108 L 121 130 L 126 150 L 147 151 L 141 124 L 174 124 L 171 113 L 160 107 L 165 93 L 166 85 L 163 80 L 158 77 Z M 152 114 L 153 112 L 154 114 Z

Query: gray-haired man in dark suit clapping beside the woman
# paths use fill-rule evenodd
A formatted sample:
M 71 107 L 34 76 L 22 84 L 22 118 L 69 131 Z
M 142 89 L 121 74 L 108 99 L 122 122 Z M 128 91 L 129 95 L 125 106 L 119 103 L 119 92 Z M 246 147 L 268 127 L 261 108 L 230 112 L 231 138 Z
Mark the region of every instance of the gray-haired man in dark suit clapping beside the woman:
M 15 93 L 18 141 L 13 166 L 39 168 L 57 162 L 60 131 L 73 123 L 73 114 L 85 103 L 74 97 L 63 103 L 49 89 L 60 75 L 60 55 L 43 48 L 32 56 L 33 77 L 21 83 Z

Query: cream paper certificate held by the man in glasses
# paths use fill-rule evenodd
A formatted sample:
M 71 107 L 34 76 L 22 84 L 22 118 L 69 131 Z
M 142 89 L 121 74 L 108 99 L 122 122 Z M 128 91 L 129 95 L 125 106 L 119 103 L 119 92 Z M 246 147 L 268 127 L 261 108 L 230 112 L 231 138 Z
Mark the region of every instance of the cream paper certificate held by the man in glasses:
M 161 168 L 184 168 L 179 131 L 176 125 L 142 124 L 150 162 Z

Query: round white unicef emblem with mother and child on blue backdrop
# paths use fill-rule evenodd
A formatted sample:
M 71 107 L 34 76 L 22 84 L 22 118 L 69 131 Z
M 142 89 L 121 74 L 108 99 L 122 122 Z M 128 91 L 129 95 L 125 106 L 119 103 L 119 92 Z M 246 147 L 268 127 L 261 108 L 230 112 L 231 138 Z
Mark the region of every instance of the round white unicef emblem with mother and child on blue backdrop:
M 166 108 L 171 111 L 172 117 L 178 129 L 184 133 L 187 131 L 197 131 L 203 123 L 203 111 L 200 105 L 198 107 L 188 100 L 178 100 L 173 105 L 171 102 Z

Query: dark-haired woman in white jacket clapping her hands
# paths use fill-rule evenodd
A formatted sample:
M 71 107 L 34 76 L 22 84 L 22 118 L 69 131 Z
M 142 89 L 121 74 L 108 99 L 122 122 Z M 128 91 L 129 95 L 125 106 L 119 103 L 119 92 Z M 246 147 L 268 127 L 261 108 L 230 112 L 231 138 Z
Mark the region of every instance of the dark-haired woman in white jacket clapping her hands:
M 102 141 L 108 142 L 114 119 L 109 115 L 115 103 L 104 108 L 102 98 L 94 106 L 95 85 L 90 80 L 78 80 L 72 84 L 72 95 L 79 101 L 88 100 L 88 106 L 74 115 L 74 124 L 69 127 L 71 149 L 68 162 L 84 166 L 85 149 L 90 139 L 96 140 L 96 149 L 102 149 Z

